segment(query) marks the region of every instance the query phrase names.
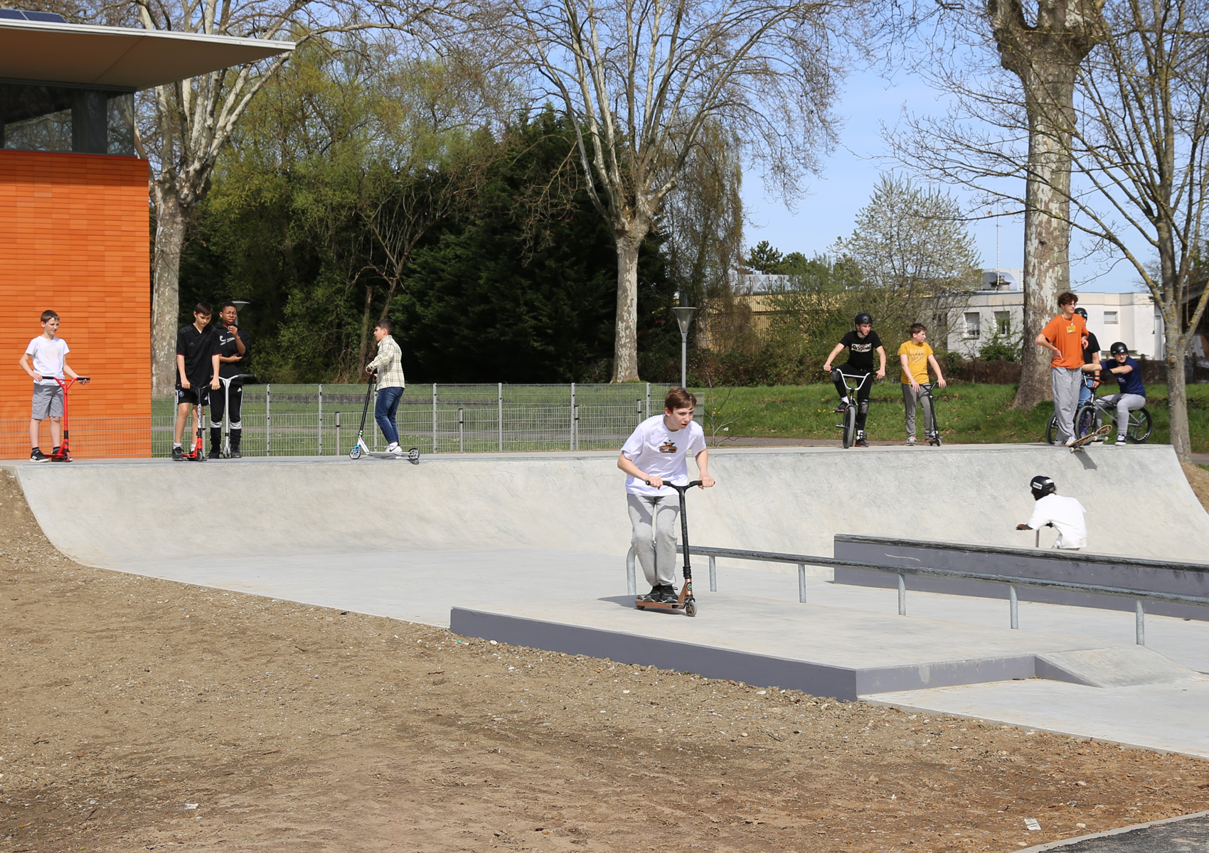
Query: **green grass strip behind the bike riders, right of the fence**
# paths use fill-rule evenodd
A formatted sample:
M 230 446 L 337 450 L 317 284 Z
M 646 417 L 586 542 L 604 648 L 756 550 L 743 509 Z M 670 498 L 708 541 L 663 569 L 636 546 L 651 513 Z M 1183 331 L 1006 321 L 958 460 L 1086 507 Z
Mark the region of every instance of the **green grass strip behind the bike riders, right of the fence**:
M 1147 389 L 1146 408 L 1153 419 L 1151 442 L 1168 441 L 1167 385 Z M 763 388 L 694 389 L 700 402 L 698 420 L 711 433 L 713 424 L 735 419 L 729 433 L 792 439 L 838 439 L 835 389 L 829 383 Z M 1016 385 L 950 383 L 933 389 L 937 419 L 947 441 L 955 443 L 1011 443 L 1041 441 L 1053 405 L 1045 402 L 1029 412 L 1011 408 Z M 903 401 L 898 382 L 879 382 L 873 388 L 867 431 L 870 439 L 906 437 Z M 1188 385 L 1188 423 L 1193 452 L 1209 452 L 1209 384 Z M 922 414 L 916 413 L 922 429 Z

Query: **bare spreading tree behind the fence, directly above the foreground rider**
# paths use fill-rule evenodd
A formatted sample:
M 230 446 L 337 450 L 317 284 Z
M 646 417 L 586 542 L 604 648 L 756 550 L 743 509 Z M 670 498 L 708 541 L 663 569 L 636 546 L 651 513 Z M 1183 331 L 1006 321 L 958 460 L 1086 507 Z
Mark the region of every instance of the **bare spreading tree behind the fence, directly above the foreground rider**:
M 638 246 L 707 123 L 786 188 L 831 141 L 841 0 L 504 0 L 536 94 L 572 120 L 617 243 L 614 382 L 638 378 Z

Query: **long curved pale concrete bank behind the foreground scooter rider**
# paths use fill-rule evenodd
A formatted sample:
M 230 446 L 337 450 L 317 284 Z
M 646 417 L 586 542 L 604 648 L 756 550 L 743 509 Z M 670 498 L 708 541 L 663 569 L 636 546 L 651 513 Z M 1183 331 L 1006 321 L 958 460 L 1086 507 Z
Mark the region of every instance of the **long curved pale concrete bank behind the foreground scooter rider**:
M 615 453 L 395 460 L 244 459 L 17 465 L 42 529 L 102 568 L 231 556 L 467 549 L 615 555 L 629 546 Z M 835 533 L 1026 547 L 1029 480 L 1088 510 L 1089 551 L 1173 561 L 1209 552 L 1209 515 L 1168 446 L 717 449 L 693 491 L 696 545 L 829 556 Z M 1052 540 L 1042 534 L 1042 546 Z

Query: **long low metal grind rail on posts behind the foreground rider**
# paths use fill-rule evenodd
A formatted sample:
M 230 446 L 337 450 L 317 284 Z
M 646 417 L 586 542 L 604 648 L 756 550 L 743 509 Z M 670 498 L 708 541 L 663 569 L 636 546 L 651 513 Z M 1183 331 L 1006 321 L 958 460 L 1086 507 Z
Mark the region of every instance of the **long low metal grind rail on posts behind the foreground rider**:
M 681 545 L 676 547 L 678 553 L 683 553 Z M 747 549 L 716 549 L 699 545 L 689 546 L 690 555 L 710 558 L 710 592 L 718 591 L 718 557 L 731 559 L 751 559 L 762 563 L 791 563 L 798 567 L 798 600 L 806 603 L 806 567 L 827 565 L 831 568 L 866 569 L 869 571 L 881 571 L 898 576 L 898 615 L 907 615 L 907 575 L 922 575 L 927 578 L 953 578 L 960 580 L 977 580 L 988 584 L 1005 584 L 1008 592 L 1008 616 L 1012 628 L 1020 627 L 1019 602 L 1017 600 L 1017 587 L 1034 587 L 1047 590 L 1068 590 L 1071 592 L 1084 592 L 1093 596 L 1107 596 L 1112 598 L 1129 598 L 1134 602 L 1134 632 L 1138 645 L 1146 645 L 1146 607 L 1145 602 L 1180 602 L 1182 604 L 1201 604 L 1209 607 L 1207 596 L 1184 596 L 1175 592 L 1146 592 L 1141 590 L 1129 590 L 1120 586 L 1100 586 L 1098 584 L 1080 584 L 1076 581 L 1041 580 L 1036 578 L 1016 578 L 1012 575 L 996 575 L 979 571 L 960 571 L 956 569 L 930 569 L 920 565 L 883 565 L 880 563 L 854 563 L 834 557 L 812 557 L 804 553 L 776 553 L 774 551 L 750 551 Z M 634 546 L 625 556 L 625 576 L 629 594 L 638 593 L 637 578 L 635 575 L 636 555 Z M 943 593 L 938 593 L 943 594 Z

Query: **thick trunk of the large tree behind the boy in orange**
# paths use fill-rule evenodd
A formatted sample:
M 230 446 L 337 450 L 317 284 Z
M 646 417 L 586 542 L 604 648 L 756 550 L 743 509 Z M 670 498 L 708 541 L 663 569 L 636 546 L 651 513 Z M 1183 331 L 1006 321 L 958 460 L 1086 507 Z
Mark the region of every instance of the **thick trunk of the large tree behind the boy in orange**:
M 1034 338 L 1058 313 L 1058 294 L 1070 289 L 1070 132 L 1075 66 L 1054 62 L 1025 80 L 1029 112 L 1028 182 L 1024 191 L 1024 353 L 1013 408 L 1029 410 L 1053 396 L 1049 350 Z M 1043 74 L 1043 76 L 1042 76 Z

